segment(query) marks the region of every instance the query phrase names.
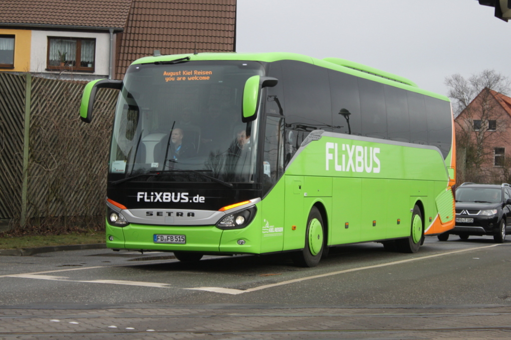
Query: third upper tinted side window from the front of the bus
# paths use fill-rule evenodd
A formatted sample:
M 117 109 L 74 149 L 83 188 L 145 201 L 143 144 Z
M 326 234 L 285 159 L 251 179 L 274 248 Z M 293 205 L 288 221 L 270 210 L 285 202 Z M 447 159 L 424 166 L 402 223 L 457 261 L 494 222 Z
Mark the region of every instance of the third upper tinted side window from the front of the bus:
M 366 79 L 358 80 L 362 136 L 387 138 L 387 113 L 383 84 Z

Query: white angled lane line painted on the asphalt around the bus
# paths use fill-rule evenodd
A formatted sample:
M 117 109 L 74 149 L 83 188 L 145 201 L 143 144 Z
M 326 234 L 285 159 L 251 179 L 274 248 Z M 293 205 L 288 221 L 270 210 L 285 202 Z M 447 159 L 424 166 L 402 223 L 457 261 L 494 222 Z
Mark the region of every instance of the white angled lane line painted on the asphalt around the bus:
M 485 249 L 485 248 L 492 248 L 496 246 L 500 246 L 501 244 L 492 244 L 490 246 L 483 246 L 483 247 L 477 247 L 477 248 L 468 248 L 468 249 L 460 249 L 455 251 L 450 251 L 446 253 L 438 253 L 434 255 L 427 255 L 427 256 L 420 256 L 420 257 L 412 257 L 404 260 L 399 261 L 393 261 L 389 263 L 379 264 L 379 265 L 373 265 L 373 266 L 366 266 L 366 267 L 358 267 L 358 268 L 352 268 L 352 269 L 345 269 L 325 274 L 319 274 L 319 275 L 312 275 L 312 276 L 306 276 L 301 277 L 298 279 L 293 280 L 287 280 L 277 283 L 271 283 L 271 284 L 264 284 L 260 285 L 258 287 L 249 288 L 246 290 L 239 290 L 239 289 L 229 289 L 224 287 L 194 287 L 194 288 L 182 288 L 185 290 L 193 290 L 193 291 L 204 291 L 204 292 L 212 292 L 212 293 L 220 293 L 220 294 L 230 294 L 230 295 L 239 295 L 243 293 L 250 293 L 250 292 L 256 292 L 261 291 L 264 289 L 277 287 L 281 285 L 296 283 L 296 282 L 302 282 L 312 279 L 317 279 L 321 277 L 328 277 L 333 275 L 339 275 L 344 273 L 352 273 L 356 271 L 361 270 L 367 270 L 367 269 L 375 269 L 375 268 L 382 268 L 387 266 L 394 266 L 394 265 L 400 265 L 404 263 L 409 263 L 412 261 L 417 260 L 424 260 L 428 258 L 433 257 L 439 257 L 439 256 L 446 256 L 446 255 L 452 255 L 452 254 L 458 254 L 462 252 L 472 251 L 472 250 L 479 250 L 479 249 Z M 82 267 L 82 268 L 73 268 L 73 269 L 62 269 L 62 270 L 53 270 L 53 271 L 44 271 L 44 272 L 36 272 L 36 273 L 22 273 L 22 274 L 11 274 L 11 275 L 2 275 L 0 278 L 3 277 L 20 277 L 20 278 L 31 278 L 31 279 L 39 279 L 39 280 L 54 280 L 54 281 L 66 281 L 66 282 L 81 282 L 81 283 L 108 283 L 108 284 L 123 284 L 123 285 L 133 285 L 133 286 L 143 286 L 143 287 L 156 287 L 156 288 L 177 288 L 172 287 L 168 283 L 158 283 L 158 282 L 143 282 L 143 281 L 125 281 L 125 280 L 70 280 L 68 277 L 64 276 L 52 276 L 52 275 L 41 275 L 41 274 L 49 274 L 49 273 L 60 273 L 60 272 L 67 272 L 67 271 L 74 271 L 74 270 L 85 270 L 85 269 L 97 269 L 97 268 L 106 268 L 107 266 L 96 266 L 96 267 Z M 110 267 L 120 267 L 120 266 L 108 266 Z

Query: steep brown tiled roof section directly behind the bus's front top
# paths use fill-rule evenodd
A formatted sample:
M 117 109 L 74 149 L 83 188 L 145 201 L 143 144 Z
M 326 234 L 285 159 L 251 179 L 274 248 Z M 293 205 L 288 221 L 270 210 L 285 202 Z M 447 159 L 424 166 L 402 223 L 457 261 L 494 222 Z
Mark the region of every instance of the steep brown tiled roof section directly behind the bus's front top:
M 2 0 L 0 0 L 2 1 Z M 233 51 L 236 0 L 132 0 L 115 78 L 135 59 L 161 54 Z

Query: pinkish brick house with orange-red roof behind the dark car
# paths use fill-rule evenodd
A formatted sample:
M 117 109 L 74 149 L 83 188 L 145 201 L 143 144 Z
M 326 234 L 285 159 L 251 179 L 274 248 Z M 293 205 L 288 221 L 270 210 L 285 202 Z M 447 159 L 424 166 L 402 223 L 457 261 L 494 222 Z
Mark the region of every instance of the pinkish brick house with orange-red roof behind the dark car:
M 457 153 L 462 156 L 458 169 L 467 171 L 458 178 L 476 182 L 505 179 L 511 171 L 511 98 L 484 88 L 455 123 Z

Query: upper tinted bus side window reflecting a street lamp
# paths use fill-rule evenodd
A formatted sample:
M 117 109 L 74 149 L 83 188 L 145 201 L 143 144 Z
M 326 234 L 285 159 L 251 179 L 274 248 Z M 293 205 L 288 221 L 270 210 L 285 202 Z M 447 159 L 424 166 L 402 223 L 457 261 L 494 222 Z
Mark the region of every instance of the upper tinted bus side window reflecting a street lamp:
M 342 134 L 360 136 L 362 134 L 360 118 L 360 96 L 357 78 L 350 74 L 329 71 L 332 96 L 332 123 L 334 131 Z M 339 112 L 345 109 L 350 115 L 344 117 Z

